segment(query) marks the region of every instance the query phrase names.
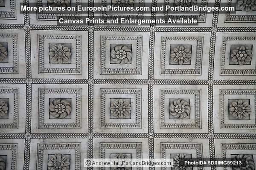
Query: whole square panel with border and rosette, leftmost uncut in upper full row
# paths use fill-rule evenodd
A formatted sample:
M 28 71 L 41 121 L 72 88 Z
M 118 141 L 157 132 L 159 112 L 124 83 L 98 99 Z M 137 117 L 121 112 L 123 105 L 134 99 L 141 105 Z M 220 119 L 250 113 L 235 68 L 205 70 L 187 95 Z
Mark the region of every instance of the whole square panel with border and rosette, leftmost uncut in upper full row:
M 39 72 L 81 74 L 81 48 L 81 35 L 38 34 Z

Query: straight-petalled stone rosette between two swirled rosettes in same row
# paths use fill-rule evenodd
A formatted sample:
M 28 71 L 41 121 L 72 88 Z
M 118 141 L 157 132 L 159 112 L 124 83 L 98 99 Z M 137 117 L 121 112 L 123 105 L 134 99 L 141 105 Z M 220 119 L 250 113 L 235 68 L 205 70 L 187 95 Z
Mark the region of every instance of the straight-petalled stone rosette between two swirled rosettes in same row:
M 131 102 L 126 99 L 116 99 L 111 103 L 110 111 L 116 118 L 126 118 L 131 115 Z

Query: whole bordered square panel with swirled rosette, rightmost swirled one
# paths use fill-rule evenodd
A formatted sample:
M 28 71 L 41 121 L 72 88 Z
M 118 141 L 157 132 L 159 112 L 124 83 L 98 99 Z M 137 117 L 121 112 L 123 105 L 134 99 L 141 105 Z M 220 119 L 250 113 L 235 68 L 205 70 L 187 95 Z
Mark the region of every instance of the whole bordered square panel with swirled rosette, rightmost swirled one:
M 160 128 L 201 128 L 201 122 L 201 89 L 160 90 Z

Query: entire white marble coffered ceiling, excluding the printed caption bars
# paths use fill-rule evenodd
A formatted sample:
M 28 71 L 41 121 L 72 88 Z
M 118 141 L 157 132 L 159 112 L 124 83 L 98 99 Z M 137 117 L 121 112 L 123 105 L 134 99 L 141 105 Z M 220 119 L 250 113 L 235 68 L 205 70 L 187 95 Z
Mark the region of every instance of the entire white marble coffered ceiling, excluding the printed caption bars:
M 59 157 L 85 170 L 85 158 L 119 156 L 240 156 L 247 167 L 233 170 L 255 170 L 255 10 L 193 27 L 63 27 L 20 14 L 38 1 L 0 0 L 0 170 L 59 170 Z M 210 169 L 232 167 L 172 168 Z

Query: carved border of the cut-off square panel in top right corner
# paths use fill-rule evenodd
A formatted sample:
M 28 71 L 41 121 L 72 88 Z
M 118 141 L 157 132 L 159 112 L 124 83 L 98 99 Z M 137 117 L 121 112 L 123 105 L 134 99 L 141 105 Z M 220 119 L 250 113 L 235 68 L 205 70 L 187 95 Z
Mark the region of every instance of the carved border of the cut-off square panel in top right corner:
M 238 0 L 237 0 L 238 1 Z M 228 0 L 228 7 L 232 6 L 232 0 Z M 227 23 L 255 23 L 256 15 L 232 15 L 230 11 L 227 11 L 226 20 Z

